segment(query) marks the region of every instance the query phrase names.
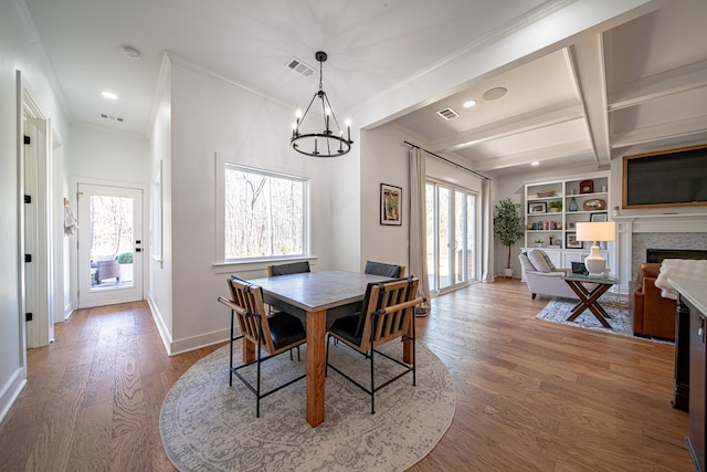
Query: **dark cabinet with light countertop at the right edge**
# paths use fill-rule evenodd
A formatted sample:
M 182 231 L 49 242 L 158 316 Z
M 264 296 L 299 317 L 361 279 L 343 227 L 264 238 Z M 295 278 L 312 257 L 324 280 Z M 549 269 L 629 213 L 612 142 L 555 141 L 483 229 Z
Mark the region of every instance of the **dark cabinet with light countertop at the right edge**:
M 687 449 L 697 471 L 705 471 L 705 438 L 707 437 L 707 423 L 705 422 L 707 410 L 707 349 L 705 346 L 707 295 L 705 286 L 707 281 L 694 279 L 669 277 L 671 284 L 678 291 L 678 325 L 688 325 L 688 328 L 679 329 L 675 339 L 675 371 L 676 392 L 678 373 L 687 371 L 687 388 L 680 386 L 687 395 L 689 409 L 689 427 L 687 434 Z M 680 319 L 682 318 L 682 319 Z M 689 321 L 689 323 L 686 323 Z M 683 379 L 683 381 L 685 381 Z

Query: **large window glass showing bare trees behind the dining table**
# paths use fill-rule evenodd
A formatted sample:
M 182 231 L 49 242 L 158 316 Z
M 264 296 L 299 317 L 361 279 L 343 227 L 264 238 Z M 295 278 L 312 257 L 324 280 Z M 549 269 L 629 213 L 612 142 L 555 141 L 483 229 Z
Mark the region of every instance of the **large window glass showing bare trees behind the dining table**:
M 305 181 L 225 166 L 225 259 L 303 255 Z

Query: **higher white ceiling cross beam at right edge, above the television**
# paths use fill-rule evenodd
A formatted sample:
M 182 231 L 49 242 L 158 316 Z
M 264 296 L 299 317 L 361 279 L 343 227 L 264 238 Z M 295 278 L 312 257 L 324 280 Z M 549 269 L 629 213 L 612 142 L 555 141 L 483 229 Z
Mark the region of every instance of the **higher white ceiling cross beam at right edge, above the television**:
M 626 84 L 609 96 L 609 111 L 641 105 L 655 98 L 707 86 L 707 60 Z

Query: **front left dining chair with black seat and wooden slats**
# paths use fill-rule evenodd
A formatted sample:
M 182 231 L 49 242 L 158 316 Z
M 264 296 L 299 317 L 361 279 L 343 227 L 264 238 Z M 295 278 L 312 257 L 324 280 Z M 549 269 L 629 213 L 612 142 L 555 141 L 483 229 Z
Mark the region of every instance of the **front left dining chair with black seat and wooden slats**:
M 245 384 L 245 386 L 255 394 L 255 417 L 261 416 L 261 399 L 267 397 L 277 390 L 285 388 L 297 380 L 306 377 L 306 374 L 298 376 L 285 384 L 282 384 L 268 391 L 261 391 L 261 364 L 272 359 L 275 356 L 291 352 L 297 347 L 297 360 L 299 360 L 299 346 L 307 340 L 302 322 L 285 312 L 277 312 L 272 316 L 266 316 L 265 304 L 263 303 L 263 289 L 253 285 L 247 281 L 241 280 L 234 275 L 229 279 L 229 289 L 231 291 L 231 300 L 219 296 L 219 302 L 231 308 L 231 361 L 229 386 L 233 385 L 233 375 Z M 238 319 L 241 335 L 235 335 L 235 321 Z M 253 345 L 257 346 L 255 360 L 244 363 L 240 366 L 233 366 L 233 343 L 244 338 Z M 268 356 L 263 357 L 262 350 Z M 257 365 L 257 375 L 255 386 L 253 386 L 239 370 Z

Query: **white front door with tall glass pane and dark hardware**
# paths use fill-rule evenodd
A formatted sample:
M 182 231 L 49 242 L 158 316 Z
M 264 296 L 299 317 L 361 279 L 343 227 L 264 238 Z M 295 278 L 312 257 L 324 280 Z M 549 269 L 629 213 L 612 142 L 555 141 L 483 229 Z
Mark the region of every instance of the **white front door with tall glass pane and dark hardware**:
M 78 183 L 78 307 L 143 300 L 143 190 Z

